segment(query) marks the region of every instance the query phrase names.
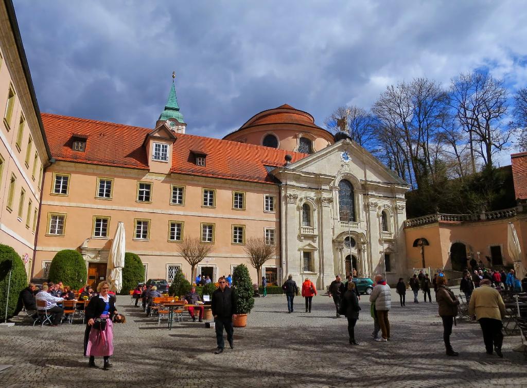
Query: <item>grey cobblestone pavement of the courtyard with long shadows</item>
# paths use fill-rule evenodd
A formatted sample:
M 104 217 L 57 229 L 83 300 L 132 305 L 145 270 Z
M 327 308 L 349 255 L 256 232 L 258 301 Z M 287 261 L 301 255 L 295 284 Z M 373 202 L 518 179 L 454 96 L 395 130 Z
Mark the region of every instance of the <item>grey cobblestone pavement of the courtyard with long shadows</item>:
M 410 292 L 407 297 L 411 300 Z M 393 290 L 393 300 L 398 301 Z M 421 296 L 422 297 L 422 296 Z M 0 386 L 526 386 L 527 362 L 513 352 L 520 337 L 505 336 L 504 358 L 485 354 L 477 323 L 458 323 L 452 344 L 459 357 L 447 357 L 436 303 L 393 303 L 392 341 L 374 342 L 367 296 L 356 327 L 361 346 L 348 344 L 347 320 L 335 317 L 327 296 L 295 298 L 287 313 L 285 296 L 256 299 L 248 325 L 235 329 L 235 349 L 219 355 L 213 329 L 184 321 L 158 327 L 118 297 L 128 316 L 115 325 L 114 367 L 89 369 L 82 356 L 84 326 L 32 327 L 18 323 L 0 329 Z M 19 322 L 20 317 L 14 319 Z M 101 365 L 102 360 L 96 359 Z

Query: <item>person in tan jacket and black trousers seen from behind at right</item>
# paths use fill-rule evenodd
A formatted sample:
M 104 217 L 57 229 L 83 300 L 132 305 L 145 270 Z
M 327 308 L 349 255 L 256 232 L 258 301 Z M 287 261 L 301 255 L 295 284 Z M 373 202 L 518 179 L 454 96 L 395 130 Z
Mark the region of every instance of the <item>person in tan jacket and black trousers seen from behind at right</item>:
M 469 304 L 469 314 L 476 315 L 483 332 L 483 342 L 487 354 L 494 350 L 497 355 L 503 357 L 501 345 L 503 334 L 501 332 L 501 318 L 505 315 L 505 304 L 499 292 L 491 287 L 491 281 L 483 279 L 480 287 L 472 293 Z

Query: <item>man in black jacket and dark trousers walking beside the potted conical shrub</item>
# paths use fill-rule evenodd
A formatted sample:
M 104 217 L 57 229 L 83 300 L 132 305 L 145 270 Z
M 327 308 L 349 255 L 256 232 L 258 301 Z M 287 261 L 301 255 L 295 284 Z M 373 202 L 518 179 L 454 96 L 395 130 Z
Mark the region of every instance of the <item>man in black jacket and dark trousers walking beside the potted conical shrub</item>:
M 214 327 L 216 328 L 216 341 L 218 342 L 218 348 L 214 351 L 214 354 L 220 354 L 223 352 L 225 343 L 223 342 L 223 328 L 227 332 L 227 341 L 229 346 L 234 349 L 234 329 L 232 328 L 232 318 L 236 318 L 236 295 L 235 292 L 227 286 L 227 280 L 225 276 L 222 276 L 218 280 L 219 288 L 212 293 L 211 297 L 211 310 L 214 316 Z

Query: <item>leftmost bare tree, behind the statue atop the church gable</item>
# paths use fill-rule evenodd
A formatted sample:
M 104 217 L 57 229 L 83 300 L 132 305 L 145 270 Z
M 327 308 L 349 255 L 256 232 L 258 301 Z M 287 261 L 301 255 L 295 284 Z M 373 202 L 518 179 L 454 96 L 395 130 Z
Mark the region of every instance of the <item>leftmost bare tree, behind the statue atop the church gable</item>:
M 327 130 L 346 132 L 353 141 L 368 150 L 373 147 L 375 117 L 358 106 L 339 106 L 324 120 Z

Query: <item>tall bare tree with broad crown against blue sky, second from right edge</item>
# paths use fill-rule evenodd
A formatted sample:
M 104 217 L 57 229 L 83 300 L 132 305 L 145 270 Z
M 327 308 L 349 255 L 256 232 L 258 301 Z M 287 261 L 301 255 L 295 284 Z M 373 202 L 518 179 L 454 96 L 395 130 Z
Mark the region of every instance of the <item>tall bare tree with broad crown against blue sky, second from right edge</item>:
M 492 156 L 502 150 L 512 132 L 503 123 L 508 97 L 503 81 L 489 74 L 461 74 L 452 80 L 450 95 L 457 120 L 469 134 L 472 172 L 476 172 L 476 156 L 492 166 Z

